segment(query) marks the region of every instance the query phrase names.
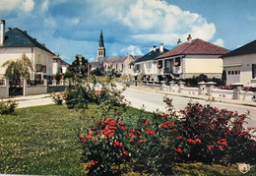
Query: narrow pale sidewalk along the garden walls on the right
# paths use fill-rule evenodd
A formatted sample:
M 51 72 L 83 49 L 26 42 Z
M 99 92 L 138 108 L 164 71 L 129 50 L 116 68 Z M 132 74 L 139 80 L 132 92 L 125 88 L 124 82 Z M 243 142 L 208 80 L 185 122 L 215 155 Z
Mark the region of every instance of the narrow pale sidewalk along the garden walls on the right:
M 206 101 L 216 101 L 216 102 L 224 102 L 224 103 L 230 103 L 230 104 L 256 107 L 256 102 L 247 101 L 247 100 L 227 99 L 227 98 L 213 97 L 213 96 L 207 96 L 207 95 L 184 94 L 184 93 L 179 93 L 177 91 L 168 91 L 168 90 L 163 90 L 160 88 L 146 88 L 146 87 L 135 87 L 135 86 L 130 86 L 130 88 L 137 88 L 137 89 L 142 89 L 142 90 L 146 90 L 146 91 L 154 91 L 154 92 L 159 92 L 162 94 L 169 94 L 169 95 L 175 95 L 175 96 L 203 99 Z

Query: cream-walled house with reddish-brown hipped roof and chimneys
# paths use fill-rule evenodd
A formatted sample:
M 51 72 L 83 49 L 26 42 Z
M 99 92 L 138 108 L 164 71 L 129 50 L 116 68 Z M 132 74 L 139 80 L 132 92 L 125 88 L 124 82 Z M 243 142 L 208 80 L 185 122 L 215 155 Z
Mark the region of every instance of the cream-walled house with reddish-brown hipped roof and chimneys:
M 200 74 L 209 78 L 221 78 L 223 74 L 223 59 L 220 57 L 228 52 L 227 49 L 202 39 L 192 39 L 177 42 L 177 47 L 160 55 L 158 75 L 170 75 L 174 78 L 187 79 Z

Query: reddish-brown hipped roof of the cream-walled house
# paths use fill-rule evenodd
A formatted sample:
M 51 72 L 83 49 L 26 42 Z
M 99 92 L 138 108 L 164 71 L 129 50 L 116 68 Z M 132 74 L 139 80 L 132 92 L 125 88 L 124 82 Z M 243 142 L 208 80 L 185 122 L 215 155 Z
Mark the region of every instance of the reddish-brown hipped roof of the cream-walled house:
M 184 42 L 183 44 L 169 50 L 168 52 L 160 55 L 157 59 L 171 57 L 176 55 L 223 55 L 229 50 L 204 41 L 202 39 L 193 39 L 191 42 Z

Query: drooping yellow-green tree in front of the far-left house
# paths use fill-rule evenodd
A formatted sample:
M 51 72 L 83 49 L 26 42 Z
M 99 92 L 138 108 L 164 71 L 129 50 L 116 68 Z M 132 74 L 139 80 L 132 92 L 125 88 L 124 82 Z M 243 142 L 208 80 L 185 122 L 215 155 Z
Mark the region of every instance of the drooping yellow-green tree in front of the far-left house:
M 17 86 L 20 80 L 30 79 L 31 77 L 32 61 L 25 53 L 22 54 L 20 59 L 4 62 L 1 67 L 7 67 L 4 77 L 9 79 L 10 86 Z

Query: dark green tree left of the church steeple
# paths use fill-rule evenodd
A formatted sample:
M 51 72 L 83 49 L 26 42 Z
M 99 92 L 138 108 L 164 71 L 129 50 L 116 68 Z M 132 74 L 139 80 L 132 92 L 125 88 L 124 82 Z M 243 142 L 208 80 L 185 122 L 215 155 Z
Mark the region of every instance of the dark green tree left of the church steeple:
M 75 60 L 68 67 L 64 77 L 74 80 L 85 80 L 88 77 L 88 60 L 77 54 Z

